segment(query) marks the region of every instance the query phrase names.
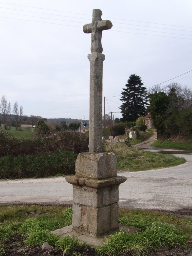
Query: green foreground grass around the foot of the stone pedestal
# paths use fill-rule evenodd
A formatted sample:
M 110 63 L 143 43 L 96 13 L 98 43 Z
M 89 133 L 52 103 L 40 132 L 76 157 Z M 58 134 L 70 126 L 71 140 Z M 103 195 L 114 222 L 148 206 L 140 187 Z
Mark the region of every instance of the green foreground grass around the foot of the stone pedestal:
M 22 235 L 25 244 L 48 242 L 60 246 L 64 253 L 74 251 L 78 240 L 74 237 L 61 238 L 50 234 L 51 230 L 70 225 L 72 208 L 58 206 L 0 206 L 0 255 L 3 242 L 10 235 Z M 129 234 L 125 231 L 114 233 L 102 247 L 100 255 L 118 255 L 122 251 L 132 251 L 133 255 L 151 255 L 159 247 L 175 244 L 185 245 L 192 238 L 192 219 L 142 210 L 119 210 L 119 223 L 138 227 L 141 232 Z

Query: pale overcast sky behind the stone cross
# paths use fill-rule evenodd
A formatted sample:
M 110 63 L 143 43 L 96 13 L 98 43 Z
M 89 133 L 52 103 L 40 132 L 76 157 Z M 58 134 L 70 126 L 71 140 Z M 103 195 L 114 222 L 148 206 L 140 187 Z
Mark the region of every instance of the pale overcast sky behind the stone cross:
M 82 27 L 93 9 L 113 23 L 102 35 L 105 113 L 121 117 L 131 74 L 149 88 L 192 70 L 191 0 L 0 0 L 0 98 L 26 115 L 89 119 L 91 34 Z M 192 88 L 192 72 L 172 81 Z

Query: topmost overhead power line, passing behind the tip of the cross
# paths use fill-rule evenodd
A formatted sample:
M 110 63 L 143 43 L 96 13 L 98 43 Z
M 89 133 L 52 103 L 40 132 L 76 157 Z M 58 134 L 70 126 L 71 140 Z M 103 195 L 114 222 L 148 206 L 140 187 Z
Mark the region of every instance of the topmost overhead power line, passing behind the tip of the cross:
M 0 2 L 0 3 L 8 4 L 8 5 L 14 5 L 14 6 L 22 6 L 22 7 L 27 7 L 27 8 L 34 8 L 34 9 L 51 10 L 51 11 L 72 13 L 72 14 L 78 14 L 78 15 L 92 16 L 90 14 L 83 14 L 83 13 L 76 13 L 76 12 L 69 12 L 69 11 L 62 11 L 62 10 L 45 9 L 45 8 L 38 8 L 38 7 L 19 5 L 19 4 L 13 4 L 13 3 L 6 3 L 6 2 Z M 192 27 L 189 27 L 189 26 L 179 26 L 179 25 L 170 25 L 170 24 L 162 24 L 162 23 L 153 23 L 153 22 L 145 22 L 145 21 L 138 21 L 138 20 L 131 20 L 131 19 L 122 19 L 122 18 L 114 18 L 114 17 L 106 17 L 106 18 L 112 18 L 112 19 L 118 19 L 118 20 L 126 20 L 126 21 L 133 21 L 133 22 L 141 22 L 141 23 L 148 23 L 148 24 L 156 24 L 156 25 L 166 25 L 166 26 L 177 26 L 177 27 L 192 28 Z

